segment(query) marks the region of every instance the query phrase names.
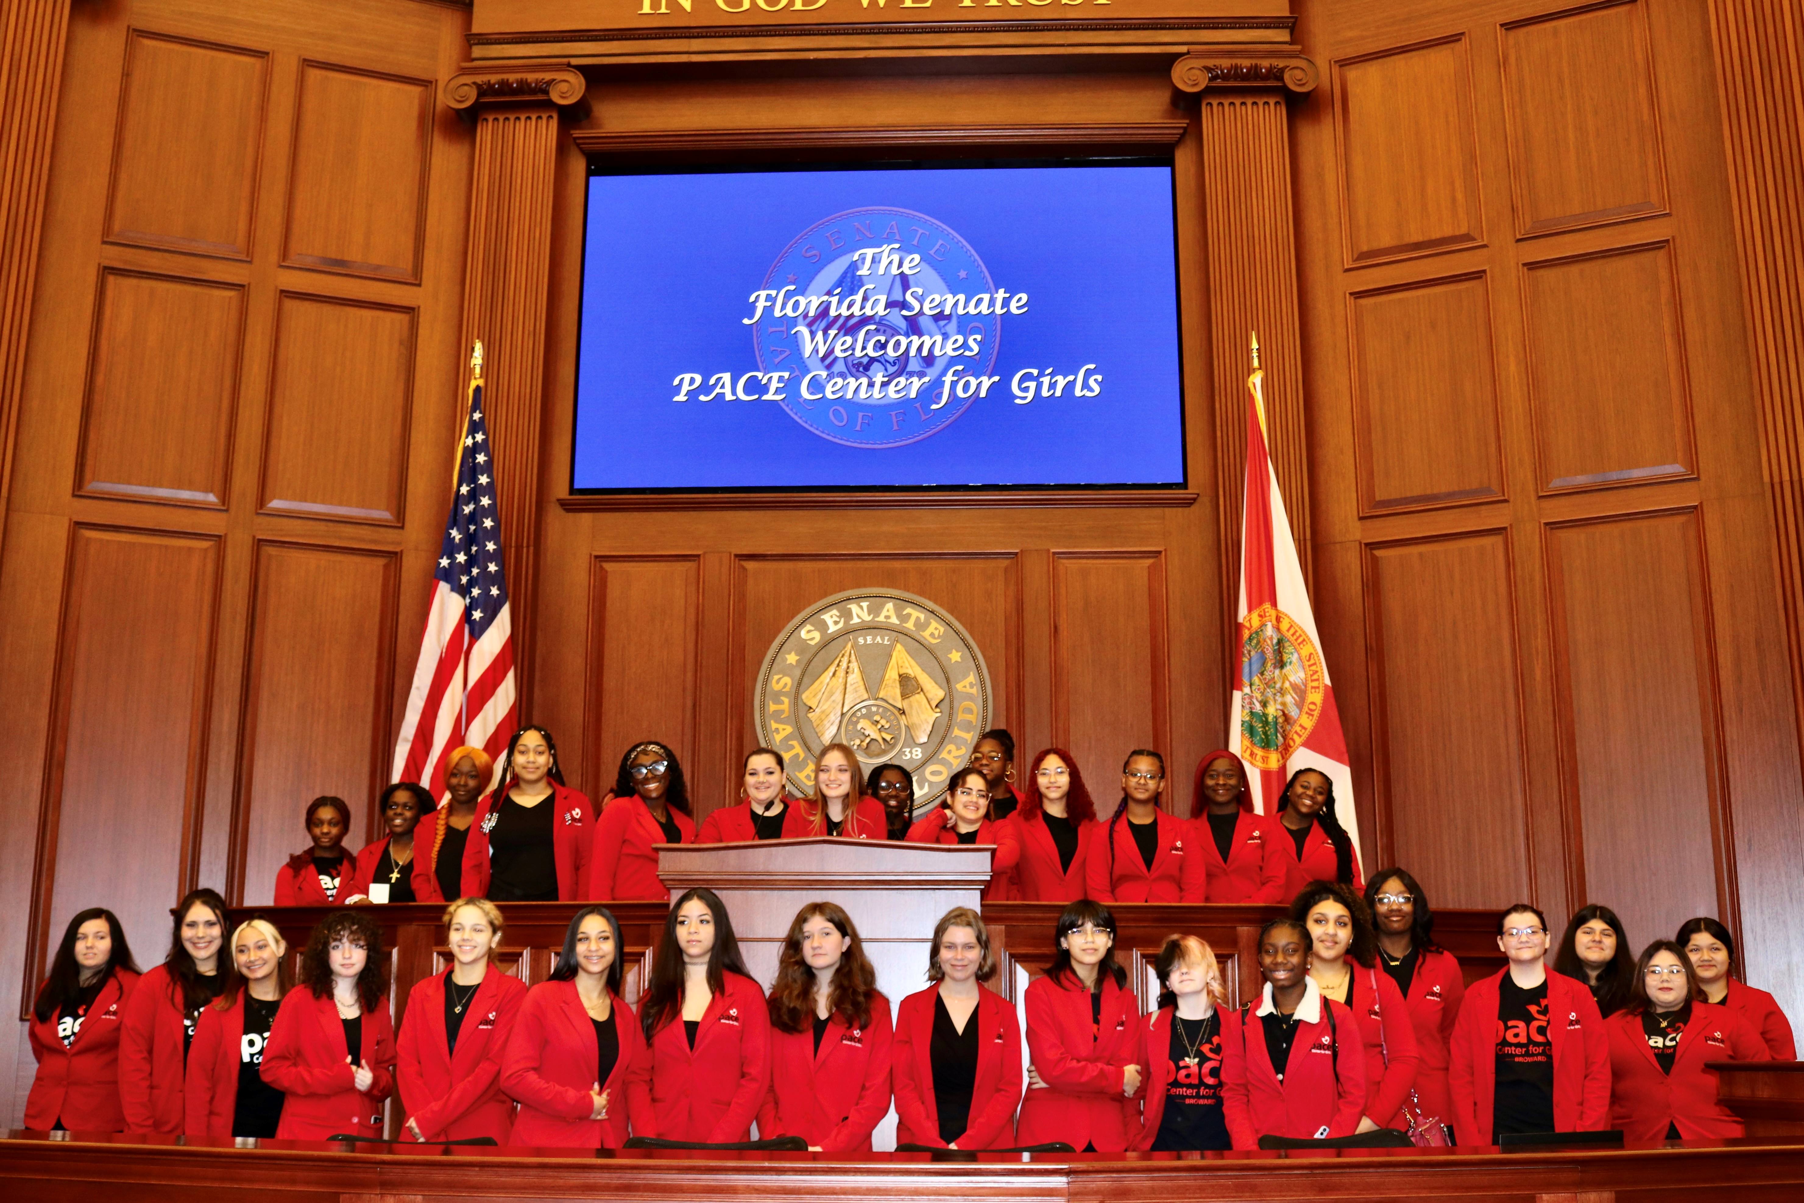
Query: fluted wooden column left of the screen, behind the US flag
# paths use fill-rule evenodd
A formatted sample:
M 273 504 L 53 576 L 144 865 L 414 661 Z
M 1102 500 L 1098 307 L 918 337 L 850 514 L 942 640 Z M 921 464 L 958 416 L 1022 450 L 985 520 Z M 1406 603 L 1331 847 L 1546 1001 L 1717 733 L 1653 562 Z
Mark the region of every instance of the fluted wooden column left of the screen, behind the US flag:
M 483 413 L 502 509 L 521 714 L 529 712 L 532 685 L 539 415 L 559 124 L 586 87 L 568 63 L 473 63 L 446 85 L 446 103 L 476 117 L 464 348 L 480 339 L 485 352 Z

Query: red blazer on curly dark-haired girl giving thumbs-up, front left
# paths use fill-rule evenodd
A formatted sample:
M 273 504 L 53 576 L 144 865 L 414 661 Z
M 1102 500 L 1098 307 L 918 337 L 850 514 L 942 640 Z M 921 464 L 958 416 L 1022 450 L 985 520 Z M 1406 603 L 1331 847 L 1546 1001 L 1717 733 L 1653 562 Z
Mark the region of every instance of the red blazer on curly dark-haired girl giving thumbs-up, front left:
M 263 1080 L 287 1095 L 276 1136 L 325 1140 L 337 1133 L 381 1140 L 382 1100 L 395 1091 L 395 1024 L 388 1003 L 363 1014 L 363 1046 L 346 1062 L 345 1024 L 332 996 L 289 990 L 263 1046 Z M 368 1093 L 354 1086 L 354 1064 L 370 1062 Z

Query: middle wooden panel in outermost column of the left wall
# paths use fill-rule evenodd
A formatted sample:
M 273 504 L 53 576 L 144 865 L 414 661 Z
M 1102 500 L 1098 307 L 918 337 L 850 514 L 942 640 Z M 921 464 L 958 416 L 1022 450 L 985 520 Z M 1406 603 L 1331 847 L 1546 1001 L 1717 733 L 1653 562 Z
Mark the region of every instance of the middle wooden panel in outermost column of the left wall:
M 101 269 L 76 492 L 226 509 L 242 285 Z

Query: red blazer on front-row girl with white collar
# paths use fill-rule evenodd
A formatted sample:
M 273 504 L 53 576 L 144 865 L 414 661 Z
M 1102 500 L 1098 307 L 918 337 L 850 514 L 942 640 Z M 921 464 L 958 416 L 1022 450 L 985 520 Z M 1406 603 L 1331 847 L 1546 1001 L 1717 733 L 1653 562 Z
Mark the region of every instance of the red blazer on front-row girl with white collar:
M 1335 1026 L 1328 1014 L 1297 1023 L 1283 1080 L 1265 1051 L 1265 1019 L 1252 1006 L 1221 1012 L 1221 1118 L 1236 1149 L 1257 1149 L 1259 1136 L 1351 1136 L 1358 1127 L 1366 1111 L 1358 1021 L 1340 1003 L 1315 997 Z

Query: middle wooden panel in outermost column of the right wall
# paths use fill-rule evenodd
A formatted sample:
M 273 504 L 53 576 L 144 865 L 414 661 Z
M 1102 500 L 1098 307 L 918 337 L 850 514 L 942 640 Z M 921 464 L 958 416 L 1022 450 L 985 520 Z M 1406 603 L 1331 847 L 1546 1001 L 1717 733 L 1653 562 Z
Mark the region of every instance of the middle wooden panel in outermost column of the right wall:
M 1674 272 L 1671 242 L 1523 265 L 1542 491 L 1698 471 Z

